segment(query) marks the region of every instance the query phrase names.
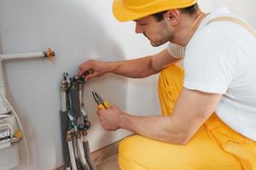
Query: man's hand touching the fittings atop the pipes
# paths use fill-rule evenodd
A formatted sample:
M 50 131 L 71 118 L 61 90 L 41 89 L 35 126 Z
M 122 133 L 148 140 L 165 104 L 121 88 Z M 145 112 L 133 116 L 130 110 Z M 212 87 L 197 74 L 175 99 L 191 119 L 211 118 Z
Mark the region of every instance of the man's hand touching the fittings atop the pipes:
M 79 65 L 79 77 L 86 73 L 86 71 L 91 71 L 89 75 L 85 77 L 85 82 L 93 77 L 102 77 L 108 72 L 108 64 L 104 61 L 89 59 Z

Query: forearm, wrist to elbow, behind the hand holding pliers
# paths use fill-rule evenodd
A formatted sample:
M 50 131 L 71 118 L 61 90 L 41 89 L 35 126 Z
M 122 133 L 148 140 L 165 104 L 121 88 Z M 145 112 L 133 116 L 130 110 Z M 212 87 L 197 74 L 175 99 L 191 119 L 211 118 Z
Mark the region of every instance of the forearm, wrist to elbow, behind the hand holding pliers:
M 174 122 L 171 116 L 131 116 L 122 114 L 119 127 L 148 139 L 172 144 L 185 144 L 183 125 Z

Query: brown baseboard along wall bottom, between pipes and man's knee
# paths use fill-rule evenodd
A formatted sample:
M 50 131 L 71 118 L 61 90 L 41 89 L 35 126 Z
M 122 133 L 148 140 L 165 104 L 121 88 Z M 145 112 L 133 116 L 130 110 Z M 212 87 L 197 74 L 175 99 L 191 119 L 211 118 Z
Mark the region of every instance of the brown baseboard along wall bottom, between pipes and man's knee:
M 93 151 L 90 154 L 90 156 L 91 156 L 92 161 L 94 162 L 94 165 L 97 166 L 100 163 L 102 163 L 102 161 L 107 159 L 108 157 L 111 157 L 111 156 L 115 155 L 116 153 L 118 153 L 118 150 L 119 150 L 119 141 L 117 141 L 113 144 L 109 144 L 109 145 L 101 148 L 100 150 Z M 61 166 L 61 167 L 56 168 L 56 170 L 65 170 L 65 167 Z

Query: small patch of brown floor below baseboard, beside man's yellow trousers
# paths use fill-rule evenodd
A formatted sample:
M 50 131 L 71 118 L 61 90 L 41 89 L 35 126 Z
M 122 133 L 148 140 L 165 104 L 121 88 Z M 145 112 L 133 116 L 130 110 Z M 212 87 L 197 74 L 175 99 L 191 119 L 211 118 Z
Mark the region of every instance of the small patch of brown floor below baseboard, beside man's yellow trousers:
M 119 170 L 118 155 L 113 155 L 96 166 L 97 170 Z

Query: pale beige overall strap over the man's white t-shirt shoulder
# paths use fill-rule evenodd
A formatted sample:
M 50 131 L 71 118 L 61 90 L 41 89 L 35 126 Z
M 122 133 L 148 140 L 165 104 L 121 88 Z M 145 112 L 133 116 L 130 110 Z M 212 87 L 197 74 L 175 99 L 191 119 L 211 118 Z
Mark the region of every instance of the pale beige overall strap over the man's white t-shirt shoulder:
M 211 24 L 212 22 L 218 22 L 218 21 L 230 21 L 235 23 L 236 25 L 239 25 L 245 29 L 247 29 L 247 31 L 249 31 L 251 34 L 253 34 L 253 36 L 256 38 L 256 31 L 253 28 L 253 26 L 250 26 L 247 22 L 234 18 L 234 17 L 230 17 L 230 16 L 220 16 L 217 17 L 215 19 L 210 20 L 207 25 Z

